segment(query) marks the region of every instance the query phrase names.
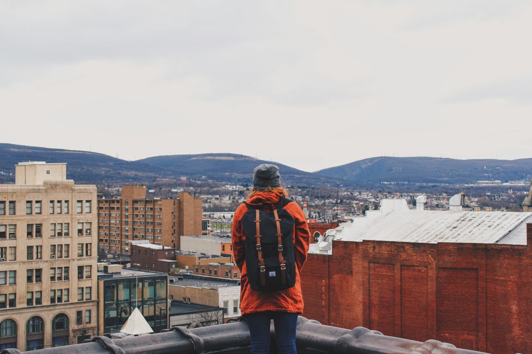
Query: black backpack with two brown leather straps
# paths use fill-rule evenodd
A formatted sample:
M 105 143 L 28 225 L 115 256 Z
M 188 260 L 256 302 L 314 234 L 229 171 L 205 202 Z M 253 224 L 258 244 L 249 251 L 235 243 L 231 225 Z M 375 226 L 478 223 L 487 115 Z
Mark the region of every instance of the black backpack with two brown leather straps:
M 295 222 L 283 209 L 290 202 L 281 197 L 277 204 L 263 204 L 262 207 L 245 203 L 248 210 L 241 222 L 246 235 L 247 279 L 253 290 L 282 290 L 295 285 Z

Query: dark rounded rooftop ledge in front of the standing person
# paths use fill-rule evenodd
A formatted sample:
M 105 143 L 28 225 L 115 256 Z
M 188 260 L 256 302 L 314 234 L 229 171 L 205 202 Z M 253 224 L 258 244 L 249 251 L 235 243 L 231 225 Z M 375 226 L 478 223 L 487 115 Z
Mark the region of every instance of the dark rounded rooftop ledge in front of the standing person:
M 271 327 L 272 350 L 275 349 L 275 332 Z M 325 326 L 300 316 L 296 332 L 297 352 L 335 354 L 479 354 L 481 352 L 459 349 L 437 340 L 424 343 L 383 335 L 364 327 L 347 330 Z M 97 336 L 82 344 L 34 350 L 32 354 L 243 354 L 250 352 L 250 333 L 245 321 L 200 327 L 188 330 L 173 327 L 165 332 L 111 340 Z M 18 349 L 5 349 L 0 354 L 20 354 Z

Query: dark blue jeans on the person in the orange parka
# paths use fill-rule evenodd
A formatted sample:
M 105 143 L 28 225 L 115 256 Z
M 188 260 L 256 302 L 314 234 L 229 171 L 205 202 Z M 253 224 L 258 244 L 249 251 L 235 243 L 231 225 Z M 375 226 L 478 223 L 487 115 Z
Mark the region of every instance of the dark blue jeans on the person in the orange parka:
M 251 354 L 270 352 L 270 320 L 273 318 L 279 354 L 296 354 L 297 314 L 279 311 L 255 312 L 244 315 L 250 328 Z

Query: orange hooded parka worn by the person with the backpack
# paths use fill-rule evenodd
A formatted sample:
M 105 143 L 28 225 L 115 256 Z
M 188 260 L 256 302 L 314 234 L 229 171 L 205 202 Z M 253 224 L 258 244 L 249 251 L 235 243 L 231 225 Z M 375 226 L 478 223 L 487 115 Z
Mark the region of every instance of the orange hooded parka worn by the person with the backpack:
M 280 195 L 276 192 L 259 192 L 246 203 L 262 205 L 277 204 Z M 245 262 L 245 239 L 246 235 L 242 229 L 243 215 L 248 210 L 246 204 L 240 205 L 235 211 L 232 223 L 232 247 L 235 263 L 240 269 L 240 311 L 243 315 L 262 311 L 284 311 L 289 313 L 303 313 L 303 293 L 301 291 L 300 272 L 306 261 L 309 252 L 310 231 L 306 223 L 303 210 L 296 203 L 288 203 L 283 208 L 294 218 L 294 252 L 296 263 L 296 283 L 295 286 L 285 290 L 277 291 L 257 291 L 253 290 L 247 280 L 247 270 Z

